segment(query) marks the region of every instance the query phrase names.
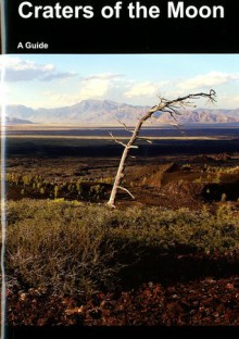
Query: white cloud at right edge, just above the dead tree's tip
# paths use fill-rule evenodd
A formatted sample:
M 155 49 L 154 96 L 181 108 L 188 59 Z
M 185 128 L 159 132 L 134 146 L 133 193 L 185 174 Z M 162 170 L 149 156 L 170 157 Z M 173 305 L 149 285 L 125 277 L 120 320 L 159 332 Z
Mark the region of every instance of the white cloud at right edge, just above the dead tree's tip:
M 223 72 L 210 72 L 204 75 L 198 75 L 193 78 L 181 80 L 179 84 L 176 85 L 176 87 L 185 90 L 190 90 L 202 87 L 214 87 L 235 80 L 239 80 L 239 73 L 230 74 Z

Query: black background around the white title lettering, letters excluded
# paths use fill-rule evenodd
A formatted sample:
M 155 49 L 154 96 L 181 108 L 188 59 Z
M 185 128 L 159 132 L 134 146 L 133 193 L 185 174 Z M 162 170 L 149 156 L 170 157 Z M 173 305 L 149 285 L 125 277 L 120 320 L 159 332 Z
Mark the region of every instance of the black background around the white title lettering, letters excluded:
M 33 4 L 92 5 L 93 17 L 22 18 L 23 0 L 4 1 L 4 53 L 238 53 L 238 0 L 184 0 L 185 7 L 223 5 L 224 18 L 168 18 L 168 0 L 140 0 L 142 5 L 158 5 L 159 18 L 129 18 L 123 0 L 120 18 L 103 18 L 104 5 L 117 0 L 29 0 Z M 178 1 L 173 0 L 177 3 Z M 3 39 L 4 40 L 4 39 Z M 48 49 L 27 49 L 25 42 L 45 42 Z M 24 49 L 17 49 L 23 42 Z

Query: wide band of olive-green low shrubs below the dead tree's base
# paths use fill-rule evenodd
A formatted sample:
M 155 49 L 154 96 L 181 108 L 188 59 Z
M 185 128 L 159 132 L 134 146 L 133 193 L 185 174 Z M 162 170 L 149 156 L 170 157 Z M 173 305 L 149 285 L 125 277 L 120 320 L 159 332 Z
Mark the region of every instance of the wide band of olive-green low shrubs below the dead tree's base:
M 92 292 L 112 289 L 128 272 L 140 275 L 148 265 L 156 277 L 162 255 L 238 250 L 238 211 L 226 202 L 214 213 L 207 208 L 109 211 L 63 199 L 8 202 L 10 285 L 17 280 L 53 292 Z

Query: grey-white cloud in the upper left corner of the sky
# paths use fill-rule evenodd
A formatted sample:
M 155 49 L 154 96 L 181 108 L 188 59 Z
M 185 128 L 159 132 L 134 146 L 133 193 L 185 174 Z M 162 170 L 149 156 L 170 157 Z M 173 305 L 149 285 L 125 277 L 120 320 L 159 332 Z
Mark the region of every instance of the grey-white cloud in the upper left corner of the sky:
M 55 78 L 68 78 L 75 76 L 74 73 L 60 73 L 52 64 L 38 64 L 30 60 L 20 58 L 3 56 L 0 61 L 0 68 L 4 70 L 4 81 L 18 83 L 41 80 L 51 81 Z

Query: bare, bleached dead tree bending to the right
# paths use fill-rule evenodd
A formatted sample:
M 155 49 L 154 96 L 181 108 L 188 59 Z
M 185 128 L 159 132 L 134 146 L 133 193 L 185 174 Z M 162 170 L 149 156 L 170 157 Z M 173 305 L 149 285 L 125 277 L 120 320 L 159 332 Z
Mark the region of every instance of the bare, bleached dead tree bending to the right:
M 200 98 L 207 98 L 211 102 L 215 102 L 216 101 L 216 99 L 215 99 L 216 93 L 213 89 L 211 89 L 209 93 L 199 92 L 199 93 L 188 95 L 185 97 L 179 97 L 179 98 L 174 99 L 174 100 L 166 100 L 164 98 L 160 98 L 159 104 L 152 106 L 146 114 L 143 114 L 138 120 L 138 122 L 137 122 L 137 124 L 133 130 L 129 129 L 125 124 L 123 124 L 125 129 L 127 129 L 128 131 L 131 133 L 131 137 L 129 138 L 127 143 L 124 143 L 124 142 L 115 139 L 113 137 L 113 135 L 110 134 L 115 142 L 117 142 L 124 147 L 124 151 L 122 153 L 121 162 L 120 162 L 117 173 L 115 176 L 114 185 L 112 187 L 111 196 L 110 196 L 110 199 L 108 201 L 108 206 L 115 208 L 115 199 L 116 199 L 116 194 L 117 194 L 118 189 L 126 191 L 133 199 L 135 199 L 135 197 L 130 193 L 130 191 L 128 189 L 122 187 L 122 180 L 125 176 L 124 172 L 125 172 L 125 166 L 126 166 L 126 160 L 129 155 L 130 149 L 138 148 L 138 146 L 136 146 L 135 142 L 139 139 L 144 139 L 144 138 L 139 137 L 139 131 L 140 131 L 143 123 L 151 117 L 155 117 L 155 115 L 153 115 L 153 114 L 156 112 L 160 112 L 160 113 L 166 112 L 174 120 L 176 120 L 176 115 L 183 114 L 180 112 L 180 109 L 186 109 L 187 106 L 192 105 L 192 102 L 190 102 L 190 100 L 196 100 L 196 99 L 200 99 Z M 144 140 L 147 140 L 147 139 L 144 139 Z M 150 140 L 147 140 L 147 141 L 151 142 Z

